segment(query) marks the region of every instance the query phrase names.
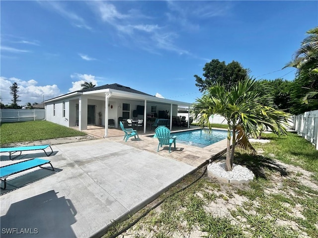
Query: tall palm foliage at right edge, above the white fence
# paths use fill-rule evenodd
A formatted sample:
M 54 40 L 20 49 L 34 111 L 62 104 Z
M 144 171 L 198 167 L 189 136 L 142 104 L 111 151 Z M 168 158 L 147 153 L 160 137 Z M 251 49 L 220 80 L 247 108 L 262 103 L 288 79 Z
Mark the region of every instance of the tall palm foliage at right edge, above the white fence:
M 309 31 L 309 34 L 296 51 L 294 59 L 285 67 L 297 68 L 295 84 L 292 88 L 292 113 L 300 114 L 318 108 L 318 27 Z M 284 67 L 284 68 L 285 68 Z M 308 101 L 308 98 L 312 100 Z M 305 104 L 304 104 L 305 103 Z

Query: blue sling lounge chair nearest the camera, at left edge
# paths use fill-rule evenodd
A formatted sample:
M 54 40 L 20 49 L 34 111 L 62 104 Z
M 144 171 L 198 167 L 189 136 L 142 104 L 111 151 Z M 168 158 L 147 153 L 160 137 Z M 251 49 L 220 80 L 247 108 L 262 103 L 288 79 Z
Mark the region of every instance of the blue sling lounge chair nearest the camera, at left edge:
M 42 165 L 45 165 L 45 164 L 50 164 L 52 167 L 52 170 L 54 171 L 54 168 L 51 164 L 51 161 L 43 160 L 43 159 L 39 159 L 39 158 L 24 160 L 24 161 L 15 163 L 15 164 L 5 165 L 5 166 L 0 167 L 0 179 L 1 179 L 1 181 L 4 182 L 3 189 L 6 188 L 6 179 L 8 176 L 14 175 L 14 174 L 26 171 L 26 170 L 33 169 L 33 168 L 38 167 L 38 166 L 41 167 Z M 45 167 L 41 167 L 41 168 L 47 169 Z

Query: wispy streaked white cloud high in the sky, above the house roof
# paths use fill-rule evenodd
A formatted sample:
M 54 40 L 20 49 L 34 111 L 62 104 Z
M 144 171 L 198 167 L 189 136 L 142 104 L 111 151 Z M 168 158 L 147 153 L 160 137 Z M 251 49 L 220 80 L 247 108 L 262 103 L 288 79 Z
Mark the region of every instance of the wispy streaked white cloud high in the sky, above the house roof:
M 114 4 L 105 1 L 90 1 L 89 4 L 102 21 L 107 22 L 118 31 L 118 36 L 123 44 L 129 42 L 127 46 L 131 47 L 134 43 L 135 46 L 151 53 L 166 50 L 180 55 L 189 55 L 188 51 L 176 46 L 174 41 L 178 37 L 176 33 L 178 30 L 174 27 L 176 24 L 172 24 L 173 29 L 160 27 L 158 24 L 152 23 L 153 17 L 147 17 L 135 9 L 122 13 Z M 151 23 L 145 23 L 145 20 Z

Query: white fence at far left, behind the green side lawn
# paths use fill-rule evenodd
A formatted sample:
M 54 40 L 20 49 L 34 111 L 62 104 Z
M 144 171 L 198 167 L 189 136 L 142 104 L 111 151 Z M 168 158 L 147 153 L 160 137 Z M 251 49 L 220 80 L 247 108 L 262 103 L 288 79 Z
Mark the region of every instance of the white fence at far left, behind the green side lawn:
M 1 122 L 45 119 L 45 109 L 1 109 Z

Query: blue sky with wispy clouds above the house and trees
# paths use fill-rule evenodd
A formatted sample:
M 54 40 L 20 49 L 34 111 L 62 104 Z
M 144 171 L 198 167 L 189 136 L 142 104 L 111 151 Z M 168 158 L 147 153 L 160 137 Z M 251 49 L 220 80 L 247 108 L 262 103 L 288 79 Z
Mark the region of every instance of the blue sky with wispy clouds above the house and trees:
M 19 105 L 119 83 L 192 103 L 212 59 L 257 79 L 293 80 L 282 67 L 318 25 L 318 1 L 0 1 L 1 102 Z

